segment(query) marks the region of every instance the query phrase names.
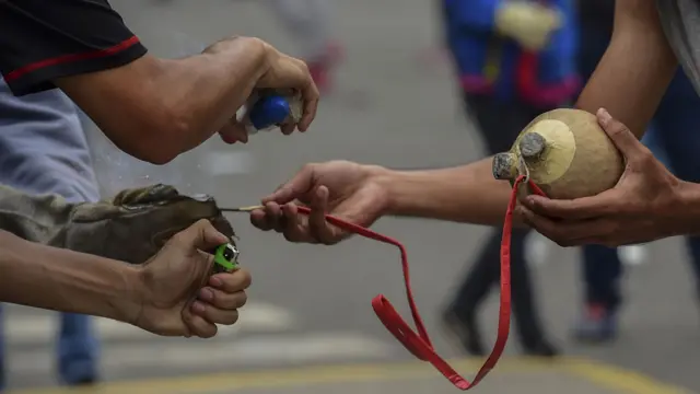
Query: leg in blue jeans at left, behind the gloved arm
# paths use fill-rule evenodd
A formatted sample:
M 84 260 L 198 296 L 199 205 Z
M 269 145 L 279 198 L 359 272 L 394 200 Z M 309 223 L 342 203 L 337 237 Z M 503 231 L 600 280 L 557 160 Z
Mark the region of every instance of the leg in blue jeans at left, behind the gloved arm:
M 74 104 L 60 91 L 15 97 L 0 80 L 0 184 L 56 193 L 70 201 L 97 200 L 88 142 Z M 97 379 L 91 318 L 61 314 L 58 369 L 63 383 Z

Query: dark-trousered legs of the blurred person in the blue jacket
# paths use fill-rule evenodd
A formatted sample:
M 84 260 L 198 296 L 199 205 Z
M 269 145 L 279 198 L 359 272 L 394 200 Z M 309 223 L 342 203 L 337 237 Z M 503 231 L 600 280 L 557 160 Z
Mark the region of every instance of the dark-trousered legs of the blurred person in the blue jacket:
M 490 154 L 510 149 L 522 128 L 533 118 L 532 108 L 516 103 L 500 103 L 488 96 L 472 95 L 465 95 L 464 101 Z M 513 314 L 525 352 L 552 356 L 556 349 L 545 338 L 534 303 L 525 260 L 527 233 L 527 230 L 514 230 L 511 240 Z M 474 316 L 491 286 L 500 279 L 501 236 L 502 230 L 494 229 L 445 314 L 451 331 L 458 334 L 467 350 L 474 354 L 483 354 Z

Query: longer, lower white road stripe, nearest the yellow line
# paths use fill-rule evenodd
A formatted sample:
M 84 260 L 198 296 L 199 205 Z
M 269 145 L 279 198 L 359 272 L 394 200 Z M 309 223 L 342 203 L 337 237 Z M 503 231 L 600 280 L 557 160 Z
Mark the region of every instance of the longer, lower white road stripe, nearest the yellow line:
M 102 350 L 101 367 L 109 374 L 141 368 L 217 369 L 229 366 L 265 367 L 280 363 L 378 359 L 392 354 L 387 343 L 353 333 L 258 335 L 237 340 L 178 340 L 119 344 Z M 52 349 L 16 351 L 9 356 L 11 374 L 54 372 Z

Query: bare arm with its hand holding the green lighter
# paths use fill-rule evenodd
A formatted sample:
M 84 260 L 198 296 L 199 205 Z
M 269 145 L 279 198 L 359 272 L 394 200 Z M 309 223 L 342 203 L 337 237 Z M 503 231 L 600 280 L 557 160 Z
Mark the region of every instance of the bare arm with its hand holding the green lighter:
M 0 301 L 84 313 L 159 335 L 211 337 L 233 324 L 245 270 L 211 276 L 209 250 L 226 242 L 207 220 L 177 233 L 142 265 L 55 248 L 0 231 Z

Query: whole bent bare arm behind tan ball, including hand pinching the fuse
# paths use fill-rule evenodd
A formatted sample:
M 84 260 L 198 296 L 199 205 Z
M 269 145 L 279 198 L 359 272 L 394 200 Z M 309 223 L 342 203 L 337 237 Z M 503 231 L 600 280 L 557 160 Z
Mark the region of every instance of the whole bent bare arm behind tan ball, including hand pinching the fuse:
M 633 127 L 635 136 L 640 137 L 673 77 L 676 59 L 661 31 L 652 0 L 619 0 L 616 7 L 615 34 L 609 48 L 587 82 L 576 106 L 596 113 L 600 106 L 606 105 L 610 113 Z M 264 201 L 271 207 L 268 207 L 267 212 L 254 212 L 252 217 L 254 223 L 264 230 L 275 229 L 285 234 L 293 233 L 295 235 L 291 235 L 292 239 L 307 241 L 308 236 L 301 235 L 307 232 L 306 220 L 296 219 L 288 210 L 284 212 L 285 221 L 280 224 L 275 219 L 276 215 L 279 215 L 275 204 L 287 204 L 293 199 L 311 202 L 313 199 L 310 198 L 310 190 L 325 185 L 330 196 L 329 202 L 327 205 L 318 202 L 317 206 L 328 209 L 331 213 L 348 215 L 350 219 L 358 218 L 362 224 L 371 224 L 376 218 L 387 213 L 497 224 L 502 222 L 510 193 L 509 183 L 493 178 L 489 158 L 454 169 L 411 172 L 382 170 L 382 175 L 352 177 L 352 182 L 358 182 L 355 178 L 363 179 L 362 185 L 380 185 L 373 188 L 375 197 L 365 198 L 361 204 L 357 204 L 358 208 L 352 208 L 355 205 L 354 200 L 352 205 L 342 204 L 342 201 L 335 201 L 332 197 L 338 195 L 346 201 L 350 201 L 348 189 L 365 188 L 349 187 L 346 178 L 319 176 L 320 173 L 338 171 L 330 165 L 320 164 L 320 166 L 302 170 L 287 184 L 287 192 L 278 190 L 267 197 Z M 359 169 L 353 167 L 352 171 L 371 174 L 368 167 Z M 301 175 L 305 173 L 311 174 L 306 176 L 311 179 L 310 182 L 298 183 L 303 187 L 291 186 L 298 179 L 305 178 L 305 175 Z M 343 179 L 342 184 L 337 179 Z M 305 188 L 306 186 L 308 188 Z M 353 195 L 354 192 L 350 194 L 350 196 Z M 368 210 L 368 207 L 376 205 L 381 209 L 370 210 L 368 215 L 360 213 L 362 210 Z M 522 213 L 518 211 L 515 216 L 516 223 L 522 223 Z M 314 225 L 325 229 L 320 221 Z M 322 231 L 326 230 L 316 230 L 316 233 Z M 335 237 L 325 236 L 337 239 L 335 235 Z

